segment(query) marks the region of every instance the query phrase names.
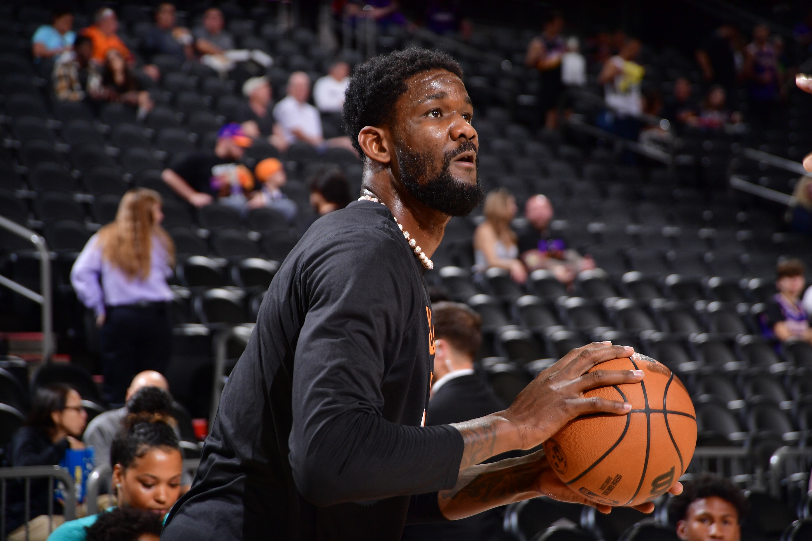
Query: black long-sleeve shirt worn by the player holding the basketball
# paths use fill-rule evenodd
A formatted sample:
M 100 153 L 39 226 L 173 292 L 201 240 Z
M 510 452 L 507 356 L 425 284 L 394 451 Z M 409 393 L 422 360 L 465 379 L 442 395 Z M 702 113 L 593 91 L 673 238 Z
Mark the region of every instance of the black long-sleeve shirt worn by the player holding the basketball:
M 162 539 L 394 541 L 443 520 L 463 441 L 421 427 L 433 340 L 423 268 L 388 209 L 316 221 L 270 284 Z

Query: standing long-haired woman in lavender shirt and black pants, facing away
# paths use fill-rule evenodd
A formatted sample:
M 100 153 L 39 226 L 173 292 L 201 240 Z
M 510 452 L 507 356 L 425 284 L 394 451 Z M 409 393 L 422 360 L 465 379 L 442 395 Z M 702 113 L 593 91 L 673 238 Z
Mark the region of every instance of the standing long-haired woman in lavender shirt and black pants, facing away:
M 132 377 L 162 372 L 172 350 L 166 279 L 175 245 L 161 227 L 161 195 L 146 188 L 124 194 L 115 220 L 85 245 L 71 269 L 71 285 L 101 328 L 104 394 L 123 404 Z

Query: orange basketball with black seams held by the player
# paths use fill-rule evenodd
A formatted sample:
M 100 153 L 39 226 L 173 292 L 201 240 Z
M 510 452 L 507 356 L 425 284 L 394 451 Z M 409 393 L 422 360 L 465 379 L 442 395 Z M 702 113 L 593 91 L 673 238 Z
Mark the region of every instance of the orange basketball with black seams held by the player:
M 685 385 L 663 364 L 641 354 L 590 371 L 642 370 L 640 383 L 593 389 L 587 397 L 624 400 L 625 415 L 572 419 L 544 442 L 559 479 L 605 505 L 639 505 L 666 492 L 685 473 L 697 444 L 697 419 Z

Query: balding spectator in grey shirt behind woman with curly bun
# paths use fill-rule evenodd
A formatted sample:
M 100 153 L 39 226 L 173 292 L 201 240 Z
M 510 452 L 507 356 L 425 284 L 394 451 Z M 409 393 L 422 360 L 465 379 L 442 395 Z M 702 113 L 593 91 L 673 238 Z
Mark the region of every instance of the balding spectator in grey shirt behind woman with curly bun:
M 88 424 L 87 429 L 84 431 L 82 440 L 87 445 L 93 445 L 96 449 L 96 454 L 93 461 L 96 466 L 102 464 L 110 464 L 110 445 L 113 444 L 113 438 L 119 433 L 121 429 L 121 422 L 127 416 L 127 411 L 140 411 L 140 406 L 131 403 L 132 397 L 136 395 L 141 389 L 158 389 L 169 393 L 169 383 L 166 378 L 162 376 L 161 372 L 154 370 L 145 370 L 136 374 L 132 378 L 132 383 L 127 388 L 125 401 L 127 405 L 121 408 L 114 408 L 107 410 L 104 413 L 98 414 Z M 170 407 L 171 407 L 171 398 Z

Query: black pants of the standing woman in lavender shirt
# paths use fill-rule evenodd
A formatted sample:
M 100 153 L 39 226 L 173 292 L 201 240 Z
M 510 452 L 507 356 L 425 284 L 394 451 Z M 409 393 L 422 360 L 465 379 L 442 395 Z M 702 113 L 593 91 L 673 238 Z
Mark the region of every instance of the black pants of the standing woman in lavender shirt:
M 123 404 L 127 387 L 140 371 L 163 373 L 172 353 L 172 325 L 166 304 L 146 307 L 106 307 L 99 333 L 104 395 L 110 404 Z

